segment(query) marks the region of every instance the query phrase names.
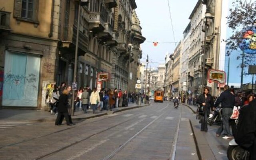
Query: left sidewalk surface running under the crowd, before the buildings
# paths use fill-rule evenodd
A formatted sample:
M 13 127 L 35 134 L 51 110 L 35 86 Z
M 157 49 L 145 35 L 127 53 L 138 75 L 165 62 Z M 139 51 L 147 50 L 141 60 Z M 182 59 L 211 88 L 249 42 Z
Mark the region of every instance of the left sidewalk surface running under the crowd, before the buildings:
M 136 103 L 129 104 L 128 107 L 118 107 L 118 109 L 114 108 L 112 111 L 108 110 L 96 110 L 96 114 L 92 113 L 92 109 L 89 109 L 86 114 L 81 111 L 74 112 L 74 116 L 72 116 L 73 120 L 85 120 L 94 117 L 100 117 L 107 114 L 112 114 L 115 112 L 122 112 L 124 110 L 130 110 L 134 108 L 140 108 L 147 106 L 145 104 L 141 104 L 138 106 Z M 48 122 L 55 121 L 57 115 L 51 114 L 48 111 L 43 110 L 23 110 L 23 109 L 2 109 L 0 110 L 0 122 L 6 121 L 25 121 L 25 122 Z

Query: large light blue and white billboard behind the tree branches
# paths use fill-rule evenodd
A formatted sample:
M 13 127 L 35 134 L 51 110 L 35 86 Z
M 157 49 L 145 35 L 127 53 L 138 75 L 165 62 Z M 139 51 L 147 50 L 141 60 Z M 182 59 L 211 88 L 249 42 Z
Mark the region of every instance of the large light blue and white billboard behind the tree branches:
M 247 32 L 246 29 L 240 28 L 241 32 L 244 33 L 243 35 L 243 41 L 246 43 L 243 43 L 243 45 L 237 48 L 237 50 L 233 50 L 230 54 L 230 70 L 228 73 L 228 56 L 226 56 L 226 52 L 228 51 L 228 48 L 226 46 L 225 40 L 227 40 L 230 36 L 232 36 L 232 29 L 228 27 L 227 24 L 227 18 L 230 15 L 230 8 L 234 8 L 232 2 L 236 2 L 236 0 L 223 0 L 222 1 L 222 19 L 221 19 L 221 28 L 220 28 L 220 56 L 219 56 L 219 70 L 224 70 L 227 74 L 229 74 L 229 83 L 232 84 L 240 84 L 241 82 L 241 67 L 239 66 L 242 63 L 241 49 L 246 49 L 245 54 L 254 54 L 253 49 L 255 48 L 255 33 L 256 30 L 252 30 L 252 32 Z M 253 0 L 240 0 L 240 5 L 242 7 L 245 7 L 247 4 L 256 5 L 255 1 Z M 250 30 L 248 30 L 250 31 Z M 254 32 L 255 31 L 255 32 Z M 248 52 L 247 52 L 248 51 Z M 256 53 L 256 51 L 255 51 Z M 238 58 L 240 57 L 240 58 Z M 244 70 L 247 71 L 246 68 Z M 244 76 L 244 83 L 251 82 L 251 76 Z

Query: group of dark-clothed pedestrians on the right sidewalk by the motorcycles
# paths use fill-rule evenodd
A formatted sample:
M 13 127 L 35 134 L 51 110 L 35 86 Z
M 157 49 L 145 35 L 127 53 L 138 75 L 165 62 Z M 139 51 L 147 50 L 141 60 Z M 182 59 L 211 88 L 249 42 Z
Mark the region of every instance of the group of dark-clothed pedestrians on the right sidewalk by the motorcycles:
M 235 94 L 234 88 L 224 86 L 224 91 L 213 98 L 209 89 L 196 98 L 196 102 L 203 108 L 201 114 L 201 131 L 208 131 L 207 120 L 210 110 L 221 107 L 222 121 L 216 132 L 217 137 L 235 139 L 237 144 L 250 152 L 250 160 L 256 159 L 256 96 L 249 94 L 243 98 L 241 94 Z M 237 118 L 233 118 L 235 108 L 238 108 Z M 230 130 L 231 126 L 231 130 Z

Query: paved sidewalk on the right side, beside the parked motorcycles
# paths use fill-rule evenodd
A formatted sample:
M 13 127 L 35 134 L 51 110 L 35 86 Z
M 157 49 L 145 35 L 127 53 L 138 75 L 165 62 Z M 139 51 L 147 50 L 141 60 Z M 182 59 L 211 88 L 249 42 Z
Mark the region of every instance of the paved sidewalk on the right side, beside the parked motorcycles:
M 190 108 L 192 112 L 196 112 L 196 106 L 188 104 L 183 105 Z M 194 138 L 202 160 L 228 160 L 226 151 L 230 140 L 216 137 L 216 130 L 219 126 L 208 125 L 208 132 L 201 132 L 201 124 L 199 123 L 199 120 L 196 120 L 195 114 L 194 117 L 190 118 L 190 125 L 193 128 Z

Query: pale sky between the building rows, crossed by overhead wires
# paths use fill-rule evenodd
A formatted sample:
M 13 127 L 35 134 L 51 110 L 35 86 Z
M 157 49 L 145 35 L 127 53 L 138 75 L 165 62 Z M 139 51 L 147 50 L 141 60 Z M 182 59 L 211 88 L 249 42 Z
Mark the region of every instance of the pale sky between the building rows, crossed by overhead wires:
M 142 27 L 142 36 L 146 41 L 142 44 L 141 62 L 146 62 L 148 54 L 149 65 L 156 68 L 160 63 L 165 63 L 166 53 L 173 53 L 175 43 L 183 38 L 183 32 L 190 22 L 190 16 L 198 0 L 169 0 L 172 15 L 172 32 L 168 0 L 136 0 L 138 8 L 136 13 Z M 174 37 L 175 40 L 174 41 Z M 153 42 L 159 42 L 157 47 Z M 171 42 L 171 43 L 163 43 Z

